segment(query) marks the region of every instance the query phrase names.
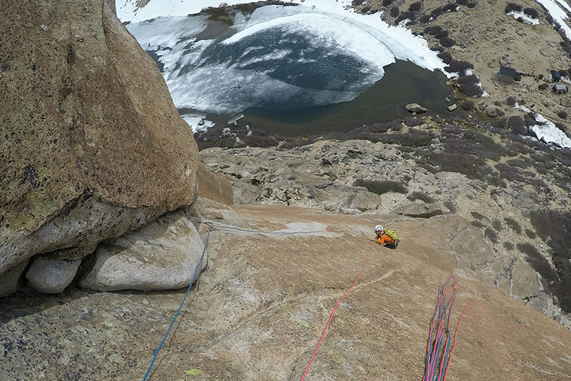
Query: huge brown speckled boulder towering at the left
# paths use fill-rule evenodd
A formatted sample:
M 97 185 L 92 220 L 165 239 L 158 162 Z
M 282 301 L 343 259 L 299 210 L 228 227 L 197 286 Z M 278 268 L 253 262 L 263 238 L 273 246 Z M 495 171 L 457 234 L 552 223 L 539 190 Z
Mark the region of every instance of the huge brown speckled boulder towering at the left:
M 192 132 L 113 1 L 2 7 L 0 278 L 190 205 Z

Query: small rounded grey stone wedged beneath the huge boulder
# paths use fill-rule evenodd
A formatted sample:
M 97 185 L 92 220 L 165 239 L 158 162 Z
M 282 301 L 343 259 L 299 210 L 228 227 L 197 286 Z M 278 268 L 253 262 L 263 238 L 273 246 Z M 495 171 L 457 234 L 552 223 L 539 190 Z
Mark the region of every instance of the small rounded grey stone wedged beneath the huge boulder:
M 74 280 L 81 260 L 51 259 L 39 255 L 32 262 L 26 279 L 40 293 L 61 293 Z

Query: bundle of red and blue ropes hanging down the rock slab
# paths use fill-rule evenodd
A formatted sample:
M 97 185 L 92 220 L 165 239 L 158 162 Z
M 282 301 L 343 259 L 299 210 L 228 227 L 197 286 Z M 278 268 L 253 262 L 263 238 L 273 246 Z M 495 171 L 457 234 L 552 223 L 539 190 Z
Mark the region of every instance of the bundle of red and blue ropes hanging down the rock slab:
M 446 300 L 446 295 L 450 292 L 450 289 L 446 290 L 448 285 L 452 287 L 452 295 Z M 458 338 L 460 321 L 474 300 L 473 295 L 468 305 L 464 308 L 464 312 L 460 315 L 460 318 L 458 318 L 453 345 L 450 347 L 450 315 L 452 314 L 452 307 L 457 291 L 458 277 L 454 275 L 451 275 L 446 283 L 438 288 L 438 299 L 436 300 L 436 307 L 434 309 L 433 318 L 430 321 L 430 331 L 428 333 L 428 348 L 426 350 L 426 367 L 423 381 L 445 381 L 446 375 L 448 375 L 448 368 L 450 367 L 450 361 L 452 360 L 454 347 L 456 346 L 456 339 Z M 438 327 L 436 328 L 436 332 L 434 332 L 435 326 Z M 434 334 L 435 337 L 433 339 Z M 446 337 L 446 340 L 443 342 L 444 337 Z M 440 360 L 440 364 L 438 360 Z

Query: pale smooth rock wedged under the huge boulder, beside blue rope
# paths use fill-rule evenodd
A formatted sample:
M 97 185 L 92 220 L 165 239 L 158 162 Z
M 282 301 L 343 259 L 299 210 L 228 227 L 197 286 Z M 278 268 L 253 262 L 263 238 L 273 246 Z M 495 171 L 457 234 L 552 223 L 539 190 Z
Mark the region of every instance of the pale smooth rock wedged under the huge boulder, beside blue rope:
M 101 243 L 93 267 L 79 284 L 99 291 L 187 287 L 203 248 L 200 235 L 184 213 L 167 213 L 144 228 Z M 200 270 L 205 267 L 206 255 Z

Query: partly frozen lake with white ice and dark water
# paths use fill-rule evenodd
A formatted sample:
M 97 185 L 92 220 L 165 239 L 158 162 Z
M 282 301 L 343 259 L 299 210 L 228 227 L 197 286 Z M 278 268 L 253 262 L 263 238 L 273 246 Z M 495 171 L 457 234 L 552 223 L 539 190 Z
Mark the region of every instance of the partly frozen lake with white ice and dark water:
M 446 112 L 436 52 L 378 16 L 256 3 L 127 28 L 191 126 L 243 114 L 268 132 L 304 134 L 405 116 L 410 102 Z

